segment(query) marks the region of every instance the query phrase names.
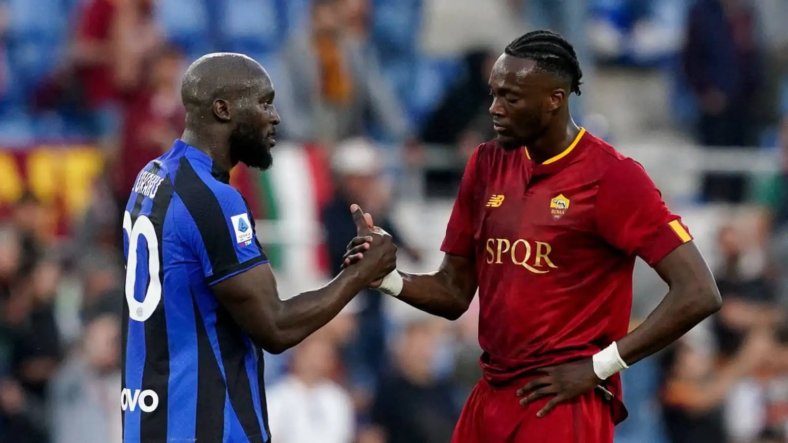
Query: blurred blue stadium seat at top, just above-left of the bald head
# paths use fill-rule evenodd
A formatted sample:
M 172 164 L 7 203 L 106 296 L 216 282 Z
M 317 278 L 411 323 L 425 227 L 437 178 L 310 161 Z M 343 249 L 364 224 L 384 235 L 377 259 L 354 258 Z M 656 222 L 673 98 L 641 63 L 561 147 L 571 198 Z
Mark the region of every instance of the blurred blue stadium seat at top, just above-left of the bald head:
M 167 39 L 184 49 L 188 58 L 199 58 L 214 50 L 210 35 L 210 14 L 203 0 L 163 0 L 158 20 Z

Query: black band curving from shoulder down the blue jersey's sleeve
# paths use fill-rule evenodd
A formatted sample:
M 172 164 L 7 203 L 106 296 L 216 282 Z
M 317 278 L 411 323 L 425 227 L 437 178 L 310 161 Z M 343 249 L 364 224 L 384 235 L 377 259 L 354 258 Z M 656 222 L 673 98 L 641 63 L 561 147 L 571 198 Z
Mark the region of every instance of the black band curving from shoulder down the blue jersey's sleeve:
M 232 240 L 225 213 L 214 192 L 197 175 L 186 157 L 180 158 L 175 192 L 184 202 L 199 234 L 203 237 L 213 275 L 208 283 L 218 280 L 238 266 L 235 242 Z

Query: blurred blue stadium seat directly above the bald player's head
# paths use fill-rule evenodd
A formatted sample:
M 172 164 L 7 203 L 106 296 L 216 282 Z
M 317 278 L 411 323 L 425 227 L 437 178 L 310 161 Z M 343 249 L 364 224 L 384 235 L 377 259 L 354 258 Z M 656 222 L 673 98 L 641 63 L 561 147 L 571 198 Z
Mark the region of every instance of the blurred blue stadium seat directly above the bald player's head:
M 284 39 L 284 9 L 276 0 L 232 0 L 219 4 L 221 49 L 261 54 Z

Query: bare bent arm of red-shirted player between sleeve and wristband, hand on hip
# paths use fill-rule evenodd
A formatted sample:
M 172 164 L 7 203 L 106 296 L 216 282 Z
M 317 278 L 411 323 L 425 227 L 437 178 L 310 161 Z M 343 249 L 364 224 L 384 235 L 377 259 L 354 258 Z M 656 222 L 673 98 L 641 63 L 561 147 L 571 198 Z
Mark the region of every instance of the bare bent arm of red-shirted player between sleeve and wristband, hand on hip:
M 676 341 L 719 311 L 722 303 L 714 277 L 694 242 L 671 251 L 654 269 L 670 290 L 640 326 L 617 342 L 621 358 L 628 365 Z

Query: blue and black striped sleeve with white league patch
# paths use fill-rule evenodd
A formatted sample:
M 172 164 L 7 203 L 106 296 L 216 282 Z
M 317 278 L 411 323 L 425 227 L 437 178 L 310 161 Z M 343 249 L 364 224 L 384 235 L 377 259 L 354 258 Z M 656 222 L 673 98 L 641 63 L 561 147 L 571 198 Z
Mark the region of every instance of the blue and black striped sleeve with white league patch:
M 225 186 L 182 195 L 193 226 L 187 241 L 203 265 L 208 285 L 268 262 L 255 233 L 255 219 L 240 192 Z

